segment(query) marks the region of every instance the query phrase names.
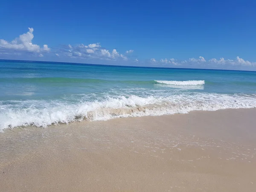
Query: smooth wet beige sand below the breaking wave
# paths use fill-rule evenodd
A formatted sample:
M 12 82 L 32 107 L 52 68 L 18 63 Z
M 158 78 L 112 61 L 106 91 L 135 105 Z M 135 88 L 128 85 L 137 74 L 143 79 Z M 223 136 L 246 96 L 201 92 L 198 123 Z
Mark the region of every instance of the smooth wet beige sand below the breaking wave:
M 0 191 L 253 192 L 256 109 L 0 134 Z

